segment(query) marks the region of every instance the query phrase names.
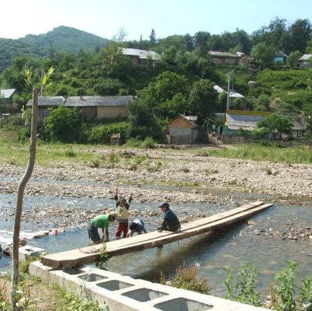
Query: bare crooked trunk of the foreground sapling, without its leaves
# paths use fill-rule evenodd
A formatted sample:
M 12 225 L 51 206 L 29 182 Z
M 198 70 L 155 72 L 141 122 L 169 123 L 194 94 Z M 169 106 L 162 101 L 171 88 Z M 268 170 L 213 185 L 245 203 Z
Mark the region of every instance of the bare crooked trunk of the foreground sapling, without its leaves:
M 19 232 L 21 229 L 21 211 L 23 209 L 23 197 L 24 190 L 28 180 L 33 173 L 33 167 L 35 166 L 36 155 L 36 139 L 37 139 L 37 107 L 38 107 L 38 93 L 33 89 L 33 109 L 31 117 L 31 145 L 29 146 L 29 157 L 26 170 L 23 177 L 19 181 L 17 188 L 17 199 L 15 208 L 15 224 L 13 233 L 13 247 L 12 247 L 12 287 L 11 287 L 11 303 L 12 309 L 17 311 L 19 306 L 17 305 L 17 285 L 19 281 Z

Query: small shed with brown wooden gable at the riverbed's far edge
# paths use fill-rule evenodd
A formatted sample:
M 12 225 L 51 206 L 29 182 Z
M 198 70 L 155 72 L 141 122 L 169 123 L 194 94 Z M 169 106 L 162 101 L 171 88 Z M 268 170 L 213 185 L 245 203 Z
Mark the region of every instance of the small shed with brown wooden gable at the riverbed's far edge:
M 167 127 L 169 134 L 167 142 L 177 145 L 196 143 L 198 138 L 197 116 L 184 116 L 179 114 L 171 120 Z

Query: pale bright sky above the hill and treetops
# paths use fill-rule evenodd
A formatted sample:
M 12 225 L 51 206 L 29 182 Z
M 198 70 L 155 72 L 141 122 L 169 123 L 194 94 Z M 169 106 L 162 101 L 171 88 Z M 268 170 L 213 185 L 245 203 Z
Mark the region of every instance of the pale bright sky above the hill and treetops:
M 292 24 L 312 22 L 311 0 L 2 0 L 0 38 L 17 39 L 69 26 L 112 39 L 123 28 L 126 40 L 168 35 L 247 33 L 279 17 Z

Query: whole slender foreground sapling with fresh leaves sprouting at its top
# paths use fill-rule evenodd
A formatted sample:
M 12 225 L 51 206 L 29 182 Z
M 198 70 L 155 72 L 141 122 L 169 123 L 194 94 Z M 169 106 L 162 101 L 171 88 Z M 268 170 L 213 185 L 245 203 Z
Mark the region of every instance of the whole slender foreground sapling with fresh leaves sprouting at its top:
M 35 166 L 35 155 L 36 155 L 36 139 L 37 139 L 37 106 L 38 106 L 38 97 L 42 94 L 44 89 L 49 87 L 49 78 L 53 74 L 53 67 L 51 67 L 46 73 L 43 74 L 43 77 L 40 79 L 40 91 L 37 91 L 34 87 L 33 82 L 33 73 L 29 70 L 26 70 L 25 82 L 29 90 L 33 94 L 33 109 L 32 109 L 32 118 L 31 118 L 31 145 L 29 146 L 29 157 L 28 163 L 24 175 L 19 181 L 19 186 L 17 187 L 17 199 L 15 207 L 15 223 L 13 231 L 13 246 L 12 246 L 12 287 L 11 287 L 11 304 L 12 310 L 19 311 L 19 301 L 17 301 L 17 290 L 19 282 L 19 232 L 21 230 L 21 212 L 23 210 L 23 198 L 24 190 L 28 180 L 31 178 L 33 173 L 33 167 Z M 23 109 L 24 114 L 24 109 Z

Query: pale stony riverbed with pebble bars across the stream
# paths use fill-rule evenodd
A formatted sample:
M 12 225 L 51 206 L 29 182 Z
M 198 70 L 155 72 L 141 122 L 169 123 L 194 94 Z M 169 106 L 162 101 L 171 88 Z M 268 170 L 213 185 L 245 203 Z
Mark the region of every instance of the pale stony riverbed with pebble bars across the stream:
M 257 198 L 270 197 L 271 202 L 288 204 L 311 204 L 312 166 L 287 165 L 268 161 L 248 161 L 209 157 L 199 150 L 89 150 L 103 163 L 66 161 L 51 163 L 49 167 L 35 166 L 26 195 L 53 195 L 54 197 L 90 197 L 113 199 L 114 188 L 120 195 L 134 193 L 137 202 L 211 203 L 220 206 L 237 206 L 247 202 L 244 195 L 255 194 Z M 114 161 L 109 159 L 114 158 Z M 0 193 L 16 193 L 19 178 L 25 167 L 0 163 Z M 235 195 L 232 193 L 235 193 Z M 267 199 L 268 200 L 268 199 Z M 103 206 L 93 211 L 77 211 L 40 205 L 24 210 L 23 220 L 40 224 L 50 220 L 55 226 L 83 226 L 94 215 L 107 211 Z M 132 211 L 133 215 L 154 217 L 157 208 L 151 211 Z M 12 220 L 12 206 L 1 206 L 2 219 Z M 198 213 L 195 217 L 202 217 Z M 180 215 L 187 221 L 187 215 Z M 294 229 L 297 231 L 297 229 Z M 286 233 L 285 233 L 286 234 Z M 304 233 L 305 234 L 305 233 Z M 271 236 L 279 236 L 272 232 Z M 285 236 L 285 235 L 283 235 Z M 288 238 L 286 234 L 286 238 Z

